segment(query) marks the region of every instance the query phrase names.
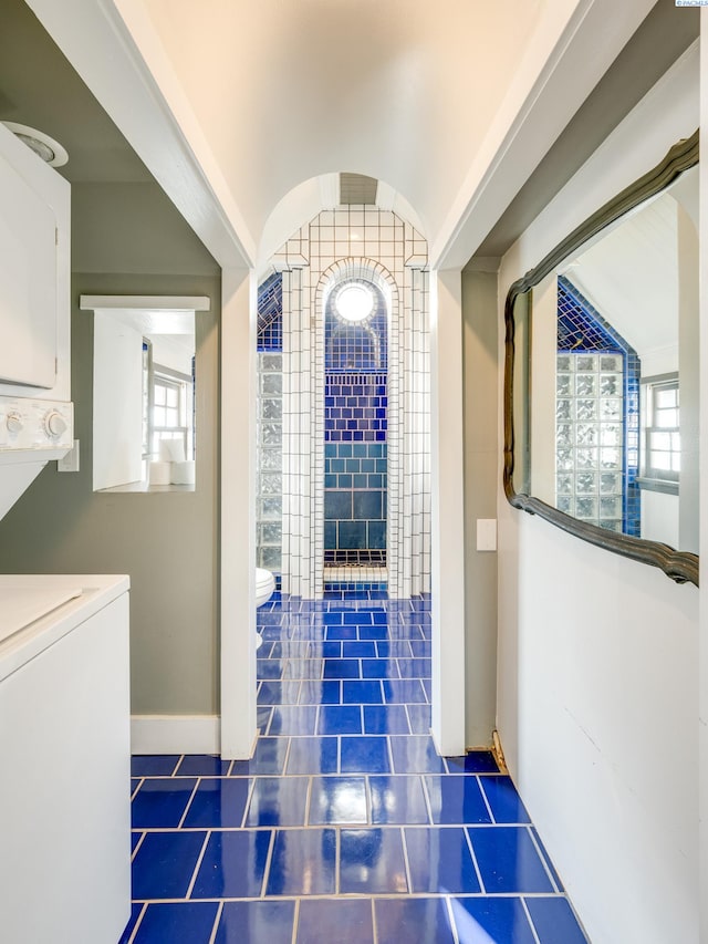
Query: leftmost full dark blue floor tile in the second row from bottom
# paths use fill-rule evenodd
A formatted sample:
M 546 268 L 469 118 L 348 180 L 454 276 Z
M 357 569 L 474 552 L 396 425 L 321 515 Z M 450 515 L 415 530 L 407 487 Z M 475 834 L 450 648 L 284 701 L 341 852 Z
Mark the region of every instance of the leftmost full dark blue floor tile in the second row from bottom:
M 134 900 L 185 898 L 206 836 L 206 832 L 146 833 L 133 860 Z

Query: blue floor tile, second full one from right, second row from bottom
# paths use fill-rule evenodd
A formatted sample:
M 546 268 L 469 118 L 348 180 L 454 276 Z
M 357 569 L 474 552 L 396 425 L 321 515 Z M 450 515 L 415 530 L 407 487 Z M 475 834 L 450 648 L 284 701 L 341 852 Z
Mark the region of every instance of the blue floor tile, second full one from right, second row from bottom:
M 405 834 L 414 892 L 480 891 L 464 829 L 413 827 Z

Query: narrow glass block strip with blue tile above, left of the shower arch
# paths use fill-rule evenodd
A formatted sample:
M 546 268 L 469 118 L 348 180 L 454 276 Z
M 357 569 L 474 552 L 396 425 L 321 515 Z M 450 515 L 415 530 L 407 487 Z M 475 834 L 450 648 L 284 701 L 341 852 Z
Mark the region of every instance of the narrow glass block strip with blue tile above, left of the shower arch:
M 257 564 L 282 567 L 282 276 L 258 291 Z

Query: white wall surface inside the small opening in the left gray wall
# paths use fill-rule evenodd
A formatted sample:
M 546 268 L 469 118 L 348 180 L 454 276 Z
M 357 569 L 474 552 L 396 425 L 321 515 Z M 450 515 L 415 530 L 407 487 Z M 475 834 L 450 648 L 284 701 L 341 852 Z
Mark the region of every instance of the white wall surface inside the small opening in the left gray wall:
M 143 336 L 110 314 L 94 315 L 93 487 L 143 477 Z

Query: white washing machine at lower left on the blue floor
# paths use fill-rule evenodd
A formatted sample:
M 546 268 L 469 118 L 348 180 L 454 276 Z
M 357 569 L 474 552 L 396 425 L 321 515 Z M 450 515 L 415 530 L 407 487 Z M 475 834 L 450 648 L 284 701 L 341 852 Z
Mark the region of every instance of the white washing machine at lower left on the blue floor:
M 115 944 L 131 911 L 128 579 L 0 577 L 0 938 Z

